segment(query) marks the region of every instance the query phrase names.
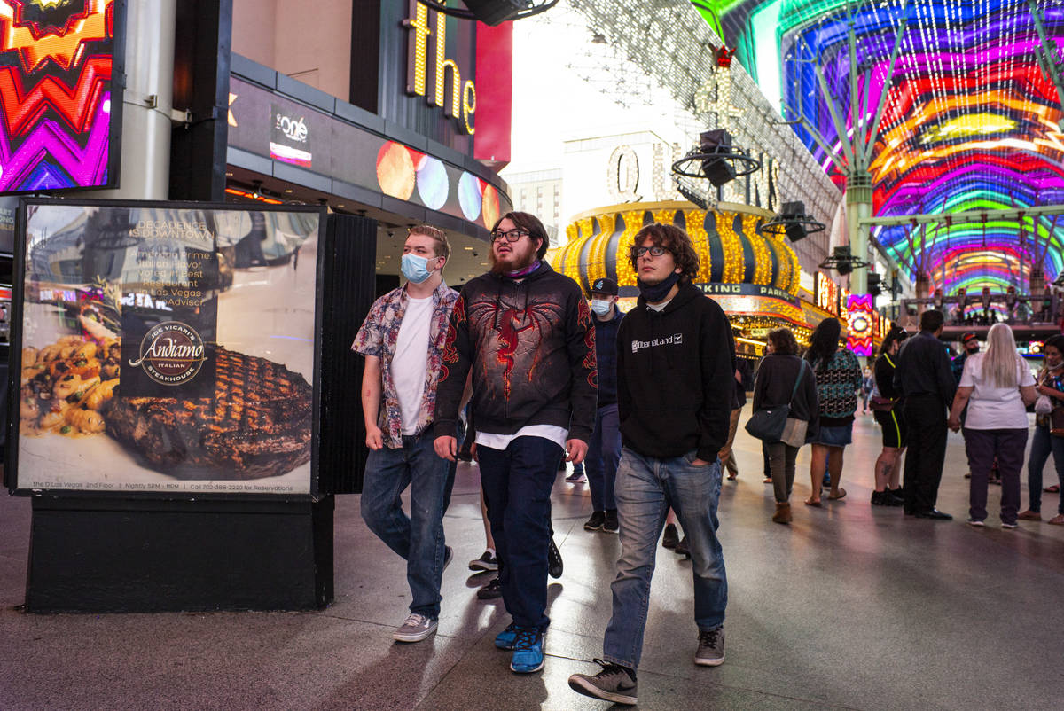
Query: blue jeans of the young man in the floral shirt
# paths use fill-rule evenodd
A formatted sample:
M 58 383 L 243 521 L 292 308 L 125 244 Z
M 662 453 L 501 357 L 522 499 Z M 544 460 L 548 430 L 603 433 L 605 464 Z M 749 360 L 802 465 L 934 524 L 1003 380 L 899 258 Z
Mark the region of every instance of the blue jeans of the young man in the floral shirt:
M 401 449 L 370 450 L 362 483 L 362 518 L 388 548 L 406 561 L 410 611 L 439 616 L 444 574 L 444 492 L 447 460 L 432 448 L 432 429 L 403 436 Z M 408 517 L 400 496 L 411 487 Z

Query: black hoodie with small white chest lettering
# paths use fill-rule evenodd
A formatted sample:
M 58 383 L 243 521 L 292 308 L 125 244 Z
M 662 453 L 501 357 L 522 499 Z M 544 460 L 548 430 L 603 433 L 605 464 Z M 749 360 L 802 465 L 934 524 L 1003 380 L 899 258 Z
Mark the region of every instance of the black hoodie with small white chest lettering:
M 684 280 L 656 312 L 639 297 L 617 332 L 620 436 L 659 459 L 697 450 L 713 462 L 728 440 L 735 342 L 716 301 Z

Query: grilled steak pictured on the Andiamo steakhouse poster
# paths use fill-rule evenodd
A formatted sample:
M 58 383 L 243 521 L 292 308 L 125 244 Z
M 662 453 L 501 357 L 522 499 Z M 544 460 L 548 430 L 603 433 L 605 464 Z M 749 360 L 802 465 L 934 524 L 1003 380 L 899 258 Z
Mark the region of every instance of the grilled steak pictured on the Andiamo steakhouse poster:
M 213 398 L 122 397 L 106 431 L 142 464 L 179 479 L 259 479 L 311 459 L 313 391 L 298 373 L 219 346 Z

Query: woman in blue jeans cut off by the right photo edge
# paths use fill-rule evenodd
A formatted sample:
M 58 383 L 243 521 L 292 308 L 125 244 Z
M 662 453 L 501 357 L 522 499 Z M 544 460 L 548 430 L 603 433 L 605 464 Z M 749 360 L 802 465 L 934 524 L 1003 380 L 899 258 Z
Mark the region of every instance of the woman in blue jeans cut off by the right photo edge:
M 1064 335 L 1054 335 L 1046 340 L 1042 349 L 1045 356 L 1045 366 L 1038 373 L 1038 399 L 1034 403 L 1034 436 L 1031 440 L 1031 453 L 1027 461 L 1027 489 L 1029 506 L 1019 514 L 1025 520 L 1042 520 L 1042 472 L 1046 468 L 1049 453 L 1053 456 L 1053 466 L 1057 468 L 1055 491 L 1060 491 L 1060 482 L 1064 482 L 1064 436 L 1053 434 L 1053 415 L 1058 424 L 1064 419 Z M 1045 491 L 1052 491 L 1047 487 Z M 1057 505 L 1057 515 L 1049 519 L 1054 526 L 1064 526 L 1064 496 Z

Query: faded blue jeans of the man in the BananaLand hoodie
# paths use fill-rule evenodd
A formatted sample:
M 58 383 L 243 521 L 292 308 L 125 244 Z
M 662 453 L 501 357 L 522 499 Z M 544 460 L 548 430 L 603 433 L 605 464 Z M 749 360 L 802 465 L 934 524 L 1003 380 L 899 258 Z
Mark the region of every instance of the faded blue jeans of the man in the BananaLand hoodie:
M 711 630 L 725 622 L 728 578 L 717 540 L 720 461 L 695 466 L 694 459 L 694 451 L 675 459 L 644 457 L 628 447 L 621 451 L 615 494 L 622 549 L 612 585 L 613 617 L 602 645 L 608 662 L 633 669 L 639 665 L 654 555 L 670 507 L 691 546 L 695 623 Z

